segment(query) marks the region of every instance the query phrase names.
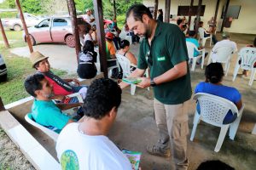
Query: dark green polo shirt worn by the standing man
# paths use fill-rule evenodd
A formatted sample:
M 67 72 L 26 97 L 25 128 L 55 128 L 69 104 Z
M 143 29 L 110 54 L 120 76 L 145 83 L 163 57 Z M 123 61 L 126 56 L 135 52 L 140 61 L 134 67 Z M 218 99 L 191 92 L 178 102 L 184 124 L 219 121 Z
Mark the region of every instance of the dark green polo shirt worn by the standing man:
M 145 70 L 149 66 L 153 79 L 185 60 L 189 60 L 189 57 L 183 32 L 176 25 L 158 21 L 151 47 L 147 38 L 141 43 L 137 68 Z M 177 105 L 191 98 L 188 62 L 187 65 L 188 73 L 185 76 L 154 87 L 155 99 L 166 105 Z

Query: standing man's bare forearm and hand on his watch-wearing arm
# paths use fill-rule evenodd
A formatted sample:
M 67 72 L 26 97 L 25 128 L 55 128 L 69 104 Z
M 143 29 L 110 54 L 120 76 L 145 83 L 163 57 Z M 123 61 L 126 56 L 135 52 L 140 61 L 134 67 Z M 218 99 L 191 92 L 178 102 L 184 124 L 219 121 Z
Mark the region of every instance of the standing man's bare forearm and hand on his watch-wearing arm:
M 187 61 L 183 61 L 177 65 L 174 65 L 172 69 L 166 71 L 164 74 L 161 74 L 159 77 L 154 77 L 154 82 L 156 85 L 171 82 L 179 77 L 183 77 L 187 74 Z M 142 88 L 148 88 L 150 86 L 150 78 L 142 77 L 142 82 L 138 83 Z

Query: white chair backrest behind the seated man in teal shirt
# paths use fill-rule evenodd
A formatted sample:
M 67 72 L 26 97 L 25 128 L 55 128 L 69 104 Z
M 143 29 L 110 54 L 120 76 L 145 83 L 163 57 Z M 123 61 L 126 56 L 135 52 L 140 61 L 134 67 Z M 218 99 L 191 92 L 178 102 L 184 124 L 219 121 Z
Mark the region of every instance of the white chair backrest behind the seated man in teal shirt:
M 53 130 L 47 128 L 47 127 L 44 127 L 44 126 L 40 125 L 38 122 L 35 122 L 32 119 L 32 114 L 31 113 L 26 114 L 25 120 L 26 120 L 26 122 L 32 124 L 32 126 L 38 127 L 40 130 L 42 130 L 44 133 L 46 133 L 54 141 L 57 141 L 59 134 L 55 133 L 55 131 L 53 131 Z

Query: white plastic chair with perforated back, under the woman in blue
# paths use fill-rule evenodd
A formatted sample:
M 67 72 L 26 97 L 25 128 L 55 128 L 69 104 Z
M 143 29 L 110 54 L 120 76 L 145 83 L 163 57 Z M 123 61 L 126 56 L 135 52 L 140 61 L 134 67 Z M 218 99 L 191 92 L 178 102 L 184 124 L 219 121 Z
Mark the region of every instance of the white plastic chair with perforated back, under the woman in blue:
M 239 127 L 239 123 L 241 121 L 241 115 L 244 109 L 244 105 L 242 105 L 240 111 L 238 111 L 236 105 L 230 100 L 205 93 L 195 94 L 194 99 L 196 99 L 200 104 L 201 114 L 199 114 L 195 109 L 195 116 L 193 122 L 194 125 L 190 140 L 193 141 L 195 137 L 196 127 L 200 120 L 202 120 L 203 122 L 207 122 L 213 126 L 221 127 L 218 136 L 218 142 L 214 149 L 215 152 L 218 152 L 221 148 L 221 145 L 223 144 L 225 135 L 229 127 L 230 139 L 234 140 L 237 128 Z M 232 111 L 233 114 L 237 114 L 236 120 L 230 124 L 223 124 L 224 117 L 226 116 L 228 111 Z

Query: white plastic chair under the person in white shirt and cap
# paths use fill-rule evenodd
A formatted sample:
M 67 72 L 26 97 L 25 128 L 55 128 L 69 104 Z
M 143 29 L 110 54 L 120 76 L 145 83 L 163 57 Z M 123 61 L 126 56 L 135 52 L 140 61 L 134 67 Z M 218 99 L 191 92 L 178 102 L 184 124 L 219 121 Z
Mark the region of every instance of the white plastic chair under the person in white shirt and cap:
M 230 46 L 216 48 L 214 51 L 211 51 L 207 65 L 209 65 L 211 62 L 224 63 L 225 76 L 227 76 L 230 69 L 231 54 L 233 53 L 234 49 Z

